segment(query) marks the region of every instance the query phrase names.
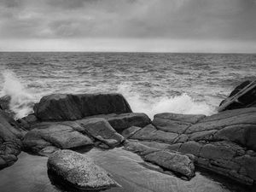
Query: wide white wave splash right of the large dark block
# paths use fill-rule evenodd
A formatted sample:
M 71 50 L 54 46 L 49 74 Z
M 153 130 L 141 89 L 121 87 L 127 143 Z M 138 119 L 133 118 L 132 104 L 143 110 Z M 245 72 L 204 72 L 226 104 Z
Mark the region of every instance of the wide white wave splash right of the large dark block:
M 181 96 L 150 97 L 145 100 L 137 93 L 131 92 L 127 86 L 119 86 L 122 93 L 131 105 L 133 112 L 147 113 L 153 119 L 156 113 L 183 113 L 183 114 L 206 114 L 215 113 L 215 108 L 206 102 L 195 102 L 195 100 L 183 93 Z

